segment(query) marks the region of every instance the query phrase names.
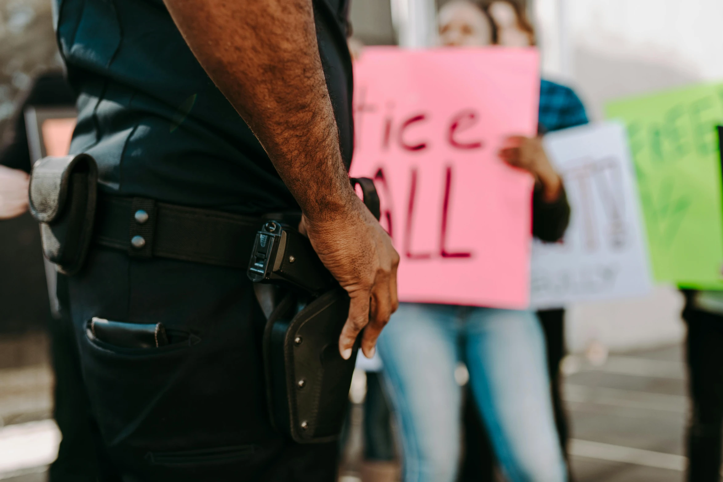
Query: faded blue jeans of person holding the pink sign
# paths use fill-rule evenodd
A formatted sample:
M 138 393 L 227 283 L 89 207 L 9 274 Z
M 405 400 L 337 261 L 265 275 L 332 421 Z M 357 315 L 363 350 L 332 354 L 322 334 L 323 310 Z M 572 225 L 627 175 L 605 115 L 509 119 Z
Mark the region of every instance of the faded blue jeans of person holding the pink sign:
M 564 482 L 544 337 L 531 311 L 401 304 L 379 339 L 395 409 L 405 482 L 454 482 L 461 455 L 462 389 L 474 401 L 510 482 Z

